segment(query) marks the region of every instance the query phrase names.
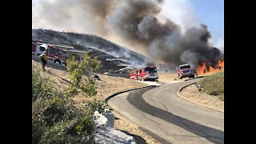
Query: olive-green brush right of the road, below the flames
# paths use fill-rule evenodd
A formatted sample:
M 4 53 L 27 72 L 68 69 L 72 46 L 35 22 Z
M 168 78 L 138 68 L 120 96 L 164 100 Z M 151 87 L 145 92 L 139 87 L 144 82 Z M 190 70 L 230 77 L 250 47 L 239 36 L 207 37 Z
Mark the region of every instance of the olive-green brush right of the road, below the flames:
M 207 94 L 218 96 L 224 101 L 224 72 L 208 75 L 199 81 L 199 84 Z

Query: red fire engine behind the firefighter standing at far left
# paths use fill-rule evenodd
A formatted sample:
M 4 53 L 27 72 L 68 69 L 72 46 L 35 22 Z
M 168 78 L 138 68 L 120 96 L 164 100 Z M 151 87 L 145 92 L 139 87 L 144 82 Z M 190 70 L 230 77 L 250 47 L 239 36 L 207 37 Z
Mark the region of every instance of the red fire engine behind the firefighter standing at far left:
M 56 64 L 66 66 L 67 50 L 73 49 L 71 46 L 60 46 L 43 42 L 32 42 L 32 54 L 39 57 L 46 50 L 47 60 Z

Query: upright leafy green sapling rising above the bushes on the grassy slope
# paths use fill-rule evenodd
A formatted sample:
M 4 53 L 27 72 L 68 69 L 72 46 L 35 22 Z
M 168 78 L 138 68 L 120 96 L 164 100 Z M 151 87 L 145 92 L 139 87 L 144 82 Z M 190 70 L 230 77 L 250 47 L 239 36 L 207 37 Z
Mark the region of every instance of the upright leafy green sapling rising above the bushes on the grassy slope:
M 74 97 L 78 94 L 78 88 L 88 96 L 94 96 L 96 92 L 96 83 L 92 80 L 91 73 L 99 70 L 102 66 L 98 58 L 91 58 L 87 53 L 84 54 L 82 62 L 78 62 L 74 57 L 67 59 L 67 70 L 70 72 L 72 85 L 67 90 L 67 96 Z M 86 73 L 87 82 L 82 83 L 82 75 Z

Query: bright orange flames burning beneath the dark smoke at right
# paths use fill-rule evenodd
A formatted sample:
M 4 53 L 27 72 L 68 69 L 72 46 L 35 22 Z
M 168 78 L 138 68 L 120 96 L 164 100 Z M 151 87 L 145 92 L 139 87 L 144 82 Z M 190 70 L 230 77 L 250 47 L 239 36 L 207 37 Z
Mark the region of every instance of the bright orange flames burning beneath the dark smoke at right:
M 206 62 L 202 62 L 202 66 L 197 66 L 198 74 L 209 74 L 213 72 L 223 71 L 224 70 L 224 61 L 218 61 L 218 65 L 215 67 L 210 66 L 210 68 L 207 70 L 206 68 Z

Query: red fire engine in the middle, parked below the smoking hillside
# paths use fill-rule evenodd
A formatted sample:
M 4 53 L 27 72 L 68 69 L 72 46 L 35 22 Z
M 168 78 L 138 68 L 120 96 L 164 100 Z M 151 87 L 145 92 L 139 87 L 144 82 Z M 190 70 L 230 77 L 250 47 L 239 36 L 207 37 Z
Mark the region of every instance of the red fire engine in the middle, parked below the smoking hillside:
M 130 71 L 130 79 L 158 81 L 158 70 L 156 66 L 146 66 L 139 70 Z

